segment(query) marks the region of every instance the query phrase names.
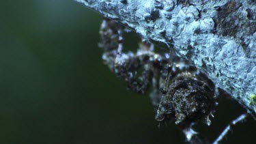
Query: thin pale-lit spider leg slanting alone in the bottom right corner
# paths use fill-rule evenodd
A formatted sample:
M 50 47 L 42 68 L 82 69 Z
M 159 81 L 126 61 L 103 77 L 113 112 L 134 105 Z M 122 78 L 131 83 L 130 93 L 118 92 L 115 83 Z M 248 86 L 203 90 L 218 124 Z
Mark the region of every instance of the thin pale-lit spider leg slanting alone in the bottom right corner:
M 225 128 L 225 130 L 221 132 L 221 134 L 218 136 L 218 138 L 214 141 L 213 144 L 218 144 L 220 141 L 222 141 L 223 138 L 227 135 L 227 133 L 231 131 L 231 127 L 235 126 L 239 122 L 242 122 L 244 119 L 246 119 L 246 117 L 248 117 L 248 113 L 243 113 L 242 115 L 231 121 L 230 124 Z

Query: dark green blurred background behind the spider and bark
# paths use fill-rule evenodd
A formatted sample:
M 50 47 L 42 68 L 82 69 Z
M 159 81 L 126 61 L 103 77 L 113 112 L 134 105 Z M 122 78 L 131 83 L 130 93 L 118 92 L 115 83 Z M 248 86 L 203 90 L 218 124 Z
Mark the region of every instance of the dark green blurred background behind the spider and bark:
M 1 1 L 0 143 L 184 143 L 175 124 L 158 128 L 148 93 L 104 66 L 101 20 L 72 0 Z M 126 35 L 126 48 L 137 42 Z M 225 100 L 195 130 L 213 141 L 244 111 Z M 253 143 L 255 128 L 250 117 L 223 143 Z

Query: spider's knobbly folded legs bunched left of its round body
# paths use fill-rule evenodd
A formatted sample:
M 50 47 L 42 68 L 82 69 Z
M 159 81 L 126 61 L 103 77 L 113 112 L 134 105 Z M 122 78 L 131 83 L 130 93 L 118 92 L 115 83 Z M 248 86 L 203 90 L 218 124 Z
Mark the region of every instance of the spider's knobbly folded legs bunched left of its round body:
M 130 89 L 145 93 L 153 77 L 152 64 L 161 56 L 152 52 L 153 45 L 146 42 L 142 44 L 137 53 L 123 53 L 123 31 L 124 27 L 113 20 L 103 20 L 99 44 L 104 51 L 102 59 L 115 75 L 128 82 Z M 142 70 L 140 76 L 136 76 L 138 70 Z

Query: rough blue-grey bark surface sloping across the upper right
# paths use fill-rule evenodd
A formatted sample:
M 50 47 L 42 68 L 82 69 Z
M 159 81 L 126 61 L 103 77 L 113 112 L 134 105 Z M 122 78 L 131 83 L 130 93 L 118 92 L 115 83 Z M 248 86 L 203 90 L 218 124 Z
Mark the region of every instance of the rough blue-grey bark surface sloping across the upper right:
M 255 0 L 75 0 L 174 48 L 256 112 Z

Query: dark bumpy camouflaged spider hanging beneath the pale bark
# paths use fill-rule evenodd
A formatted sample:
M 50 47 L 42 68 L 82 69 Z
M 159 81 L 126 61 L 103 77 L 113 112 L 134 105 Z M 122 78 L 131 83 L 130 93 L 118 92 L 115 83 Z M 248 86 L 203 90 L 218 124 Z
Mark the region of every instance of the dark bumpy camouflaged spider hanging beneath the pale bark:
M 189 143 L 209 143 L 192 126 L 200 121 L 210 125 L 209 117 L 213 117 L 218 104 L 214 83 L 193 63 L 177 57 L 173 50 L 155 53 L 154 44 L 147 40 L 142 40 L 137 53 L 124 53 L 122 35 L 126 31 L 129 30 L 113 20 L 103 20 L 99 47 L 104 51 L 104 63 L 116 76 L 124 78 L 133 91 L 145 93 L 152 84 L 150 98 L 157 121 L 175 121 Z M 232 121 L 214 143 L 246 117 L 243 114 Z

